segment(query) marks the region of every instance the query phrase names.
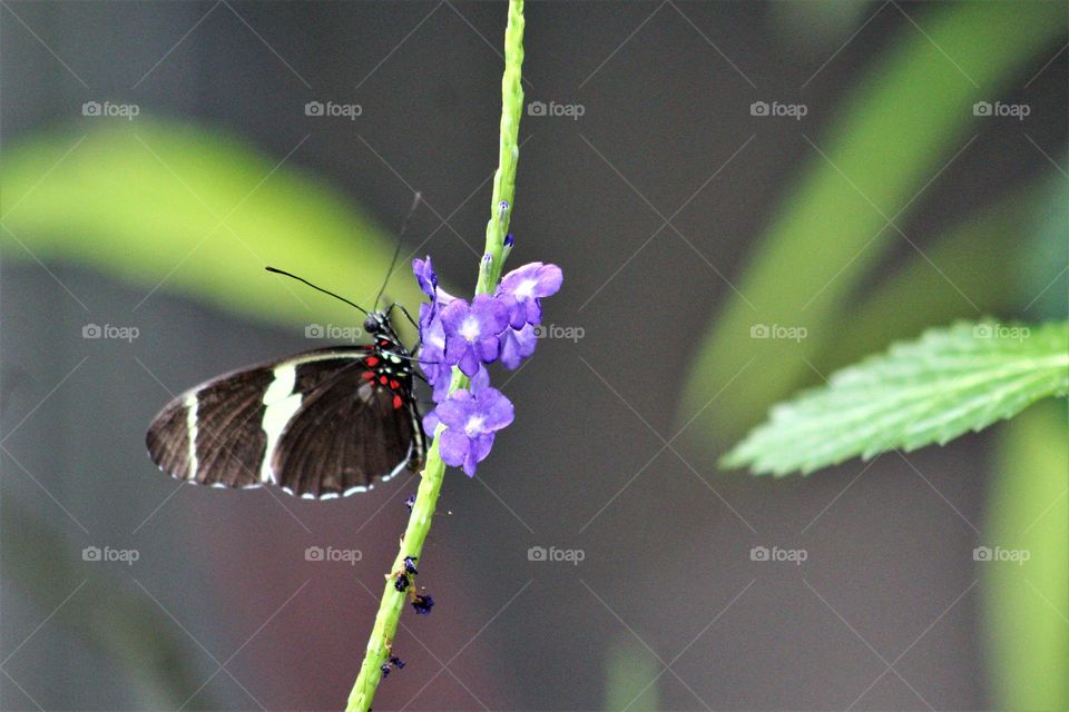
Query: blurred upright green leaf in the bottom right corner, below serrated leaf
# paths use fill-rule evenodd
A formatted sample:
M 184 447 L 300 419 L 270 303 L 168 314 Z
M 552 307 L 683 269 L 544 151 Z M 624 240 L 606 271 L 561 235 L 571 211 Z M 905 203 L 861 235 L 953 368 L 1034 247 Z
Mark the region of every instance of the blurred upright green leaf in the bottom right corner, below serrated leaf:
M 1023 563 L 978 563 L 999 710 L 1069 709 L 1069 449 L 1059 405 L 1029 408 L 999 439 L 984 544 L 1028 552 Z

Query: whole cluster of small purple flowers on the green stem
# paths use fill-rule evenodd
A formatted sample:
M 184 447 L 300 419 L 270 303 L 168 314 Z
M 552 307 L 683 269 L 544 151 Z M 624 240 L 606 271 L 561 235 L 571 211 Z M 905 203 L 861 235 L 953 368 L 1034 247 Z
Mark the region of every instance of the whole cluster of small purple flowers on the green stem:
M 531 263 L 507 274 L 493 295 L 468 301 L 439 289 L 430 257 L 413 260 L 412 271 L 430 297 L 420 305 L 419 362 L 438 404 L 423 427 L 434 433 L 439 424 L 445 426 L 439 436 L 442 461 L 471 477 L 490 454 L 494 434 L 513 416 L 512 403 L 490 386 L 487 364 L 500 360 L 516 369 L 534 353 L 541 299 L 557 294 L 563 276 L 556 265 Z M 470 385 L 450 394 L 454 366 Z

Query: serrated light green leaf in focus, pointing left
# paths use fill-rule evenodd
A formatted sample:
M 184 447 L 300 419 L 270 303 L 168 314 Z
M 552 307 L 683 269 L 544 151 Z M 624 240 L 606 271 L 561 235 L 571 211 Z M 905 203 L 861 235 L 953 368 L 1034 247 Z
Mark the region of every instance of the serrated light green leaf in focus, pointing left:
M 1069 394 L 1069 322 L 932 329 L 778 405 L 724 464 L 810 473 L 861 455 L 940 445 Z

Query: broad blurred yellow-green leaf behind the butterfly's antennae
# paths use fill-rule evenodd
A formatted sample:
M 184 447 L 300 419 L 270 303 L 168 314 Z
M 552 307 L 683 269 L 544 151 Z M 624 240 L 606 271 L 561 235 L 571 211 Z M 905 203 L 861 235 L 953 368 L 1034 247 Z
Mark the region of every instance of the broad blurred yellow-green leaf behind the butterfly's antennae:
M 4 150 L 0 244 L 8 259 L 73 263 L 146 296 L 177 291 L 275 324 L 359 324 L 351 307 L 264 271 L 282 267 L 370 307 L 390 264 L 395 238 L 297 160 L 141 118 L 29 137 Z M 408 276 L 398 270 L 390 296 L 414 304 Z

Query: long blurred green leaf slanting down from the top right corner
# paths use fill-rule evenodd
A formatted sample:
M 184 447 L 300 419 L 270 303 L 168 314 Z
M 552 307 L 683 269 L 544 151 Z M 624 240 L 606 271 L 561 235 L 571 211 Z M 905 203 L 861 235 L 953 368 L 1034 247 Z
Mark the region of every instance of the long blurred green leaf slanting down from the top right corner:
M 902 22 L 890 53 L 859 77 L 841 118 L 811 137 L 810 168 L 736 280 L 745 299 L 733 300 L 702 342 L 679 419 L 716 399 L 689 431 L 705 448 L 710 434 L 736 439 L 812 377 L 806 359 L 838 332 L 851 293 L 903 239 L 887 219 L 903 225 L 914 196 L 969 142 L 972 103 L 997 97 L 1065 33 L 1058 3 L 904 11 L 923 31 Z M 755 324 L 803 326 L 810 336 L 801 344 L 747 338 Z

